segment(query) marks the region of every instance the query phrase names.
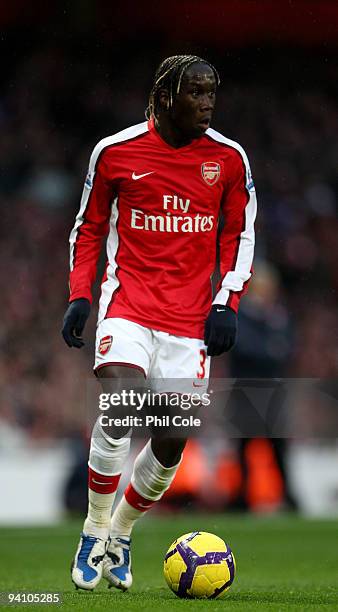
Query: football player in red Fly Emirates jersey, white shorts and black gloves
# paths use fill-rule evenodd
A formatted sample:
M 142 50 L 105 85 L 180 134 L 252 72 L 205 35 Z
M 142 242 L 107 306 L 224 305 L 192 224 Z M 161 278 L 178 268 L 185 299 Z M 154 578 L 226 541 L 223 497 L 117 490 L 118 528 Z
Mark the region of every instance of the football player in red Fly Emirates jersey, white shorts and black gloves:
M 168 57 L 155 74 L 147 121 L 93 150 L 70 236 L 62 333 L 68 346 L 83 346 L 107 237 L 94 365 L 102 383 L 197 378 L 207 389 L 210 357 L 235 343 L 252 270 L 256 195 L 242 147 L 210 127 L 218 85 L 208 61 Z M 212 296 L 220 215 L 221 280 Z M 88 515 L 72 567 L 77 587 L 92 590 L 102 576 L 111 586 L 131 586 L 133 526 L 170 486 L 184 445 L 184 438 L 155 433 L 111 516 L 130 437 L 109 435 L 97 421 Z

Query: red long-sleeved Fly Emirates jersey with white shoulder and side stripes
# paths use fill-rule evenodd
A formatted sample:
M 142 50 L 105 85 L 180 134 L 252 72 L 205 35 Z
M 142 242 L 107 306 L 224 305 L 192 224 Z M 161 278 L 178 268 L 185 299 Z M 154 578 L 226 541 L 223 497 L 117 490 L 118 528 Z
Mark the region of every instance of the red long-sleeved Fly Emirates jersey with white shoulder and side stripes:
M 220 214 L 221 282 L 235 311 L 251 276 L 256 195 L 248 159 L 213 129 L 175 149 L 152 120 L 95 147 L 70 235 L 70 301 L 88 298 L 103 238 L 99 321 L 122 317 L 203 338 Z

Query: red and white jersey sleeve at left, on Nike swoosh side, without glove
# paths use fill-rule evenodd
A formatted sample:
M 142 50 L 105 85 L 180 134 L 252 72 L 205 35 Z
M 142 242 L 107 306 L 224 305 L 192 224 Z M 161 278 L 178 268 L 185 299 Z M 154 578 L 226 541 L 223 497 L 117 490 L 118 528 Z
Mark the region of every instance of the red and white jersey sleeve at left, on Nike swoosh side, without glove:
M 108 234 L 114 186 L 109 178 L 106 151 L 99 143 L 92 153 L 80 210 L 69 237 L 70 302 L 78 298 L 92 301 L 97 262 L 103 238 Z

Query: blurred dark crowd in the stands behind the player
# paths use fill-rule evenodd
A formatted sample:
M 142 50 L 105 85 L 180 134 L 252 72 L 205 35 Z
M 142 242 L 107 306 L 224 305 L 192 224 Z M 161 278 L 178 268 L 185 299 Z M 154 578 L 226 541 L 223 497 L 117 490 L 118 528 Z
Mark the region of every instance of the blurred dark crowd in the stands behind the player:
M 123 61 L 81 52 L 47 44 L 30 51 L 5 70 L 1 88 L 0 431 L 7 439 L 20 431 L 32 443 L 83 433 L 96 306 L 85 348 L 68 349 L 60 336 L 68 235 L 93 146 L 143 121 L 153 72 L 167 54 L 163 49 L 154 63 L 147 52 Z M 277 362 L 271 375 L 334 378 L 337 99 L 323 85 L 334 79 L 332 67 L 321 82 L 299 78 L 297 86 L 265 68 L 255 78 L 240 71 L 232 78 L 222 73 L 222 58 L 212 59 L 223 77 L 214 127 L 246 149 L 259 202 L 258 284 L 243 312 L 255 317 L 263 301 L 269 325 L 285 332 L 284 344 L 272 342 L 264 356 Z M 303 61 L 293 66 L 299 77 Z M 248 350 L 255 363 L 259 343 Z M 230 373 L 229 357 L 220 359 L 216 369 Z M 252 375 L 259 376 L 257 368 Z

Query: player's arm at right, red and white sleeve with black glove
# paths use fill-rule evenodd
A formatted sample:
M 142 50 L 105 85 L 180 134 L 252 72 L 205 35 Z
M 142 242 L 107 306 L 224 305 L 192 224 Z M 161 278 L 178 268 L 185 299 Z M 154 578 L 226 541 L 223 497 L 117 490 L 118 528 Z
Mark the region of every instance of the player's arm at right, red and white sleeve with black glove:
M 247 290 L 252 272 L 256 210 L 256 192 L 248 159 L 244 151 L 236 151 L 222 201 L 221 281 L 205 326 L 208 355 L 229 351 L 236 341 L 239 301 Z

